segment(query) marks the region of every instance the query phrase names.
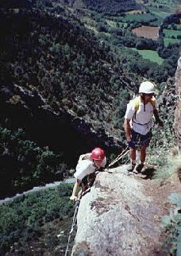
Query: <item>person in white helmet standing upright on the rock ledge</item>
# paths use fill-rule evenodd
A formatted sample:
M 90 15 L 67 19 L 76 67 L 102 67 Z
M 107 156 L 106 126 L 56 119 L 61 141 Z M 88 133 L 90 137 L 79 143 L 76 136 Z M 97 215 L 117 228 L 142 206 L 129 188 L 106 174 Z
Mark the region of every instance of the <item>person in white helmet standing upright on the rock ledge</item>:
M 140 173 L 144 168 L 146 149 L 152 138 L 152 114 L 155 116 L 156 123 L 160 127 L 163 126 L 156 109 L 154 84 L 149 81 L 141 83 L 139 94 L 128 103 L 124 122 L 125 136 L 131 153 L 131 164 L 128 165 L 127 170 L 133 173 Z M 140 142 L 141 151 L 140 163 L 136 167 L 137 142 Z

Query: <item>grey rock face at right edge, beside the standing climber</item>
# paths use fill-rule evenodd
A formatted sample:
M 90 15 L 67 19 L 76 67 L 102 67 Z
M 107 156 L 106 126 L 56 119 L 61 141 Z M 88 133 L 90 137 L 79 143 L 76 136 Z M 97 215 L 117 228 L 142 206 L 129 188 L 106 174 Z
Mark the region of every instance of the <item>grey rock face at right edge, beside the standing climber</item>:
M 181 57 L 178 60 L 178 66 L 175 73 L 175 89 L 177 98 L 177 107 L 175 109 L 175 134 L 178 138 L 179 150 L 181 150 Z

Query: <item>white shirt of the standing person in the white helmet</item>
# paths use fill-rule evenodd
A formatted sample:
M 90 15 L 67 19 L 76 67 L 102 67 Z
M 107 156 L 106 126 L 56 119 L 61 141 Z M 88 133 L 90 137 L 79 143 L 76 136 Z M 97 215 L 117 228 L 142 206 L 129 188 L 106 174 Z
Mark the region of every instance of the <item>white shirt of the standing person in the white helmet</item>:
M 147 103 L 145 105 L 145 111 L 144 111 L 144 103 L 140 103 L 139 109 L 137 110 L 136 118 L 134 114 L 135 114 L 135 103 L 131 101 L 127 105 L 125 118 L 131 119 L 130 126 L 138 134 L 142 134 L 142 135 L 148 134 L 148 132 L 152 128 L 152 114 L 153 114 L 152 103 Z

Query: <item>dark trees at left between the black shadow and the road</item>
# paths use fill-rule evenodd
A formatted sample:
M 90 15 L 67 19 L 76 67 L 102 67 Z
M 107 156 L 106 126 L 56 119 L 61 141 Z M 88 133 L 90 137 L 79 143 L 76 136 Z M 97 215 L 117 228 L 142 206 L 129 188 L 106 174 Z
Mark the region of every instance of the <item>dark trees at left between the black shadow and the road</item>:
M 67 166 L 63 154 L 40 148 L 22 129 L 0 126 L 0 196 L 22 192 L 38 184 L 63 180 Z

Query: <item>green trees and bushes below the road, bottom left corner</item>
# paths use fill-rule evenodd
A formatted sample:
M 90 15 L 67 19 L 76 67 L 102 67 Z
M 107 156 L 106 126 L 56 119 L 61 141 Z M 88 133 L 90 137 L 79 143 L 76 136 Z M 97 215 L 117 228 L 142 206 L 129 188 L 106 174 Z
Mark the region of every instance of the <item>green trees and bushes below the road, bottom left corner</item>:
M 73 215 L 69 200 L 71 184 L 60 184 L 39 192 L 30 192 L 0 205 L 0 254 L 42 254 L 44 249 L 54 254 L 56 246 L 64 249 Z M 66 222 L 66 223 L 65 223 Z M 67 225 L 64 229 L 63 225 Z M 57 238 L 64 230 L 64 239 Z

